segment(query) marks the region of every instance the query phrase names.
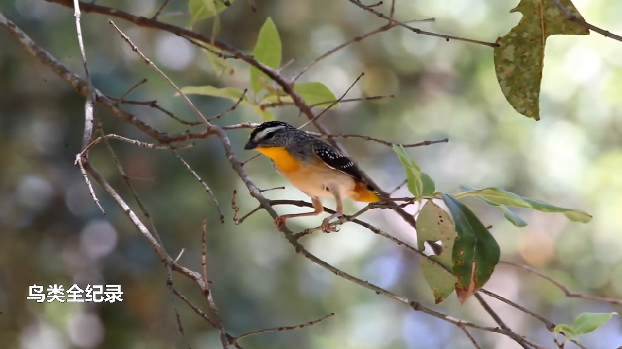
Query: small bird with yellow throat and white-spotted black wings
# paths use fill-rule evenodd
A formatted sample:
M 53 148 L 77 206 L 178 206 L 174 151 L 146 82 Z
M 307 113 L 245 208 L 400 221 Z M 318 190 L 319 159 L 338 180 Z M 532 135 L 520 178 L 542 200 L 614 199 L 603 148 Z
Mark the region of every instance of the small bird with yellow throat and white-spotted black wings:
M 317 216 L 324 212 L 321 198 L 333 197 L 336 209 L 322 221 L 322 231 L 337 231 L 330 221 L 343 215 L 343 199 L 356 202 L 379 202 L 381 195 L 364 182 L 361 173 L 348 157 L 327 142 L 283 121 L 271 120 L 251 132 L 246 150 L 269 157 L 285 179 L 311 198 L 313 212 L 281 215 L 274 220 L 281 227 L 289 218 Z

